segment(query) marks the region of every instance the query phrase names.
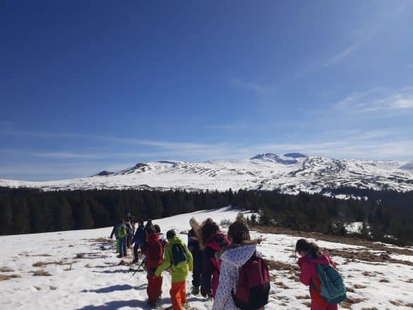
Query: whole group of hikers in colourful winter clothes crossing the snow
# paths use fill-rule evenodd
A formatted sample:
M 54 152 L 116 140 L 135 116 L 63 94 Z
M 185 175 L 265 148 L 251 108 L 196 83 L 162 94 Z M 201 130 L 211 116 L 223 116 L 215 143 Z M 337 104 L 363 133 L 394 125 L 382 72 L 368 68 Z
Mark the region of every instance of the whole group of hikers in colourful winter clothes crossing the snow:
M 156 306 L 162 295 L 162 272 L 169 269 L 172 287 L 169 290 L 172 306 L 188 307 L 186 278 L 192 271 L 191 294 L 213 299 L 213 310 L 263 310 L 268 304 L 270 274 L 257 245 L 262 239 L 251 239 L 249 226 L 243 219 L 229 225 L 227 234 L 213 219 L 202 224 L 192 217 L 189 221 L 188 244 L 174 229 L 162 234 L 159 225 L 151 220 L 144 225 L 133 217 L 120 220 L 112 230 L 119 244 L 119 258 L 133 245 L 133 263 L 138 263 L 138 250 L 148 279 L 148 305 Z M 345 287 L 335 263 L 314 243 L 299 239 L 295 247 L 301 257 L 299 280 L 309 286 L 311 310 L 335 310 L 346 298 Z

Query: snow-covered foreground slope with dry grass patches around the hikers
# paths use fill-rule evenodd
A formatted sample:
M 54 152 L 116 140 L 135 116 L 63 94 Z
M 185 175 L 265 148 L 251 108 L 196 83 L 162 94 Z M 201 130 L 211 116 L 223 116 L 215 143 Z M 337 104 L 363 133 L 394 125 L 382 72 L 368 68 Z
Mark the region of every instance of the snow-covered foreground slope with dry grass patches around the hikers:
M 223 219 L 234 220 L 237 213 L 237 210 L 222 208 L 176 215 L 154 222 L 164 232 L 176 229 L 186 242 L 185 232 L 191 216 L 195 215 L 199 220 L 213 217 L 216 222 L 221 222 Z M 0 276 L 15 274 L 20 277 L 0 281 L 0 309 L 147 309 L 145 273 L 136 273 L 132 277 L 128 266 L 118 266 L 120 259 L 115 257 L 114 244 L 97 239 L 107 237 L 110 232 L 111 227 L 107 227 L 0 237 L 0 270 L 6 270 L 6 267 L 13 269 L 0 271 Z M 252 232 L 251 235 L 265 238 L 258 249 L 271 262 L 271 296 L 266 309 L 306 309 L 309 292 L 297 280 L 298 270 L 293 256 L 294 244 L 299 236 L 258 232 Z M 322 241 L 318 241 L 318 244 L 339 253 L 342 251 L 343 256 L 353 251 L 381 254 L 375 249 L 357 245 Z M 388 249 L 391 251 L 392 248 L 389 246 Z M 413 262 L 413 251 L 400 247 L 393 249 L 402 249 L 405 253 L 390 254 L 392 258 Z M 340 263 L 340 270 L 349 288 L 348 305 L 351 309 L 373 306 L 377 309 L 395 309 L 395 304 L 400 305 L 397 309 L 411 309 L 412 266 L 398 261 L 371 263 L 349 260 L 340 255 L 333 255 L 333 259 Z M 61 262 L 64 265 L 32 266 L 39 262 Z M 51 275 L 33 276 L 30 272 L 35 270 L 44 270 Z M 170 305 L 170 280 L 170 275 L 164 273 L 160 306 Z M 187 279 L 187 287 L 191 287 L 191 276 Z M 188 295 L 188 300 L 195 309 L 212 307 L 212 302 L 205 302 L 202 297 Z

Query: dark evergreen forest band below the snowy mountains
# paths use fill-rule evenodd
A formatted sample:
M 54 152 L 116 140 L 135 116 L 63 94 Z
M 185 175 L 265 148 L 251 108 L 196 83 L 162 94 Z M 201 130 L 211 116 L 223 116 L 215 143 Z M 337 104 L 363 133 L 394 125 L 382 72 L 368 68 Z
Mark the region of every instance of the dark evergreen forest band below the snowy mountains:
M 221 192 L 0 188 L 0 234 L 107 227 L 126 213 L 147 220 L 235 205 L 261 213 L 258 219 L 249 219 L 261 225 L 345 234 L 345 222 L 366 222 L 361 237 L 413 244 L 413 191 L 354 188 L 325 191 L 367 197 L 367 200 L 337 199 L 323 193 L 288 195 L 278 191 L 231 189 Z

